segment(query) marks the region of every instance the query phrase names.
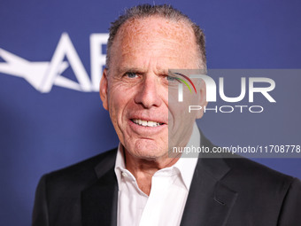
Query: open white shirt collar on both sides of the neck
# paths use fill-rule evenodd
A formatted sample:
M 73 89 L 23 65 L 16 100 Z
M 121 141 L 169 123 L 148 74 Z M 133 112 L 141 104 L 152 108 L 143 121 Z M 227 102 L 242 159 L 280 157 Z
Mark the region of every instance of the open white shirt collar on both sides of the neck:
M 195 146 L 199 147 L 201 142 L 201 135 L 197 128 L 197 123 L 193 125 L 192 134 L 189 139 L 189 143 L 186 145 L 187 147 Z M 183 183 L 185 184 L 186 189 L 189 191 L 190 184 L 192 181 L 193 174 L 195 172 L 195 168 L 197 167 L 197 160 L 198 160 L 198 154 L 194 158 L 183 158 L 181 157 L 174 166 L 170 168 L 163 169 L 164 171 L 171 169 L 174 170 L 176 168 L 181 175 L 181 179 Z M 119 144 L 116 161 L 115 161 L 115 174 L 117 177 L 117 181 L 120 187 L 121 183 L 121 174 L 123 171 L 127 171 L 125 160 L 124 160 L 124 152 L 123 152 L 123 146 L 122 144 Z M 161 169 L 162 170 L 162 169 Z M 158 170 L 160 171 L 160 170 Z M 129 171 L 127 171 L 129 173 Z

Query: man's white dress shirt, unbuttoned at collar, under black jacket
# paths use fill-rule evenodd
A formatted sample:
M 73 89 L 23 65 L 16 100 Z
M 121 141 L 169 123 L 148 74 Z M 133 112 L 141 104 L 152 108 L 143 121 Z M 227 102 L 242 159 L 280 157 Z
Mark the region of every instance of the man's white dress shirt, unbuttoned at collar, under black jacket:
M 199 146 L 197 124 L 187 146 Z M 146 195 L 135 176 L 125 166 L 120 144 L 115 163 L 118 191 L 118 226 L 176 226 L 186 204 L 197 158 L 180 158 L 172 167 L 158 170 L 151 179 L 151 193 Z

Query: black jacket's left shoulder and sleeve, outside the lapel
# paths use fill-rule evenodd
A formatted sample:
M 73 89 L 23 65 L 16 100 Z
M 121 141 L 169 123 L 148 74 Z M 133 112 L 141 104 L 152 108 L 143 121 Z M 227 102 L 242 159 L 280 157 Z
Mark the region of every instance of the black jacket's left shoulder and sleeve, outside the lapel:
M 43 175 L 35 191 L 33 225 L 81 225 L 81 193 L 114 168 L 117 149 Z

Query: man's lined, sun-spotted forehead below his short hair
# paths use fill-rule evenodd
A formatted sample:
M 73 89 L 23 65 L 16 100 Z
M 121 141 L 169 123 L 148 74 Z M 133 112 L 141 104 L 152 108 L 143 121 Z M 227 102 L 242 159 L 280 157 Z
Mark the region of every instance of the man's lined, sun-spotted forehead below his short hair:
M 161 17 L 129 19 L 118 31 L 112 44 L 112 55 L 127 52 L 161 51 L 174 56 L 191 55 L 197 58 L 196 37 L 185 21 Z M 187 53 L 189 51 L 189 53 Z M 116 56 L 116 55 L 115 55 Z M 190 56 L 189 56 L 190 57 Z

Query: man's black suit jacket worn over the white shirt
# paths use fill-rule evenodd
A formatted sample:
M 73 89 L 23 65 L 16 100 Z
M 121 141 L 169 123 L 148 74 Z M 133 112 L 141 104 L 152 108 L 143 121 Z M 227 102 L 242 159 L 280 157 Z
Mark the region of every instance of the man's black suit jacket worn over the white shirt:
M 205 136 L 202 145 L 212 147 Z M 33 225 L 116 225 L 116 152 L 43 175 Z M 200 158 L 181 219 L 194 225 L 300 226 L 301 183 L 247 159 Z

